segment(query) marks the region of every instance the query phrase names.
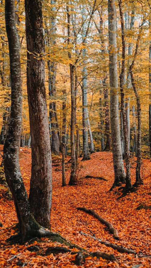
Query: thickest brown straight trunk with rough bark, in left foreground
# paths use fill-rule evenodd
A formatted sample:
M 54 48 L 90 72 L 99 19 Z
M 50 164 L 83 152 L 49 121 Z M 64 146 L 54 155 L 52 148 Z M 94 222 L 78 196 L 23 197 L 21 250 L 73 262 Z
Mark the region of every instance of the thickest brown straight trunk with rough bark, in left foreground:
M 25 0 L 27 93 L 31 129 L 31 184 L 29 202 L 35 219 L 50 226 L 52 162 L 45 92 L 42 2 Z M 36 123 L 35 123 L 36 122 Z

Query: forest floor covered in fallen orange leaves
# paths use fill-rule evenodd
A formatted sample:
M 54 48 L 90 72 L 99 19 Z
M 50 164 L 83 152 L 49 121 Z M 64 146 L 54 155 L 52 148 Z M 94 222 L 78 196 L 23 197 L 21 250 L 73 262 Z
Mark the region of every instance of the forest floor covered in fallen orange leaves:
M 2 153 L 2 146 L 0 147 Z M 69 157 L 66 159 L 66 162 Z M 17 217 L 12 200 L 5 195 L 3 185 L 0 185 L 0 267 L 17 268 L 20 260 L 22 267 L 49 267 L 49 268 L 76 268 L 76 267 L 151 267 L 150 241 L 150 196 L 149 181 L 151 178 L 151 162 L 144 159 L 141 175 L 144 184 L 136 192 L 117 199 L 121 191 L 114 189 L 109 192 L 114 181 L 112 153 L 98 152 L 91 155 L 91 160 L 79 159 L 78 184 L 76 186 L 62 187 L 61 158 L 53 158 L 53 197 L 51 210 L 51 229 L 59 232 L 67 240 L 77 244 L 89 252 L 103 251 L 114 254 L 119 263 L 109 260 L 87 257 L 85 263 L 77 266 L 74 263 L 75 254 L 59 253 L 58 255 L 45 255 L 50 246 L 64 246 L 49 238 L 36 239 L 33 244 L 40 249 L 37 252 L 28 251 L 29 243 L 10 245 L 6 239 L 16 232 L 13 229 Z M 135 182 L 136 158 L 131 160 L 131 178 Z M 22 148 L 20 151 L 20 166 L 25 187 L 29 193 L 31 172 L 31 150 Z M 70 164 L 66 164 L 66 181 L 69 181 Z M 84 178 L 86 175 L 103 177 L 107 181 L 97 178 Z M 77 207 L 93 209 L 101 217 L 111 222 L 118 230 L 120 240 L 115 240 L 105 225 Z M 131 248 L 137 254 L 120 253 L 111 247 L 106 247 L 93 238 L 80 234 L 80 231 L 92 235 L 103 241 Z M 64 246 L 65 247 L 65 246 Z

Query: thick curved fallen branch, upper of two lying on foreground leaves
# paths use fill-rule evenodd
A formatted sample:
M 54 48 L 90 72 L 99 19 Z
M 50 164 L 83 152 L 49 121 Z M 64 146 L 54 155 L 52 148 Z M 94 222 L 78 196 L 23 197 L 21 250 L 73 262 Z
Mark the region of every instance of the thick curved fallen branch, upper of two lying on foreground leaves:
M 103 224 L 105 224 L 108 227 L 109 231 L 113 234 L 114 239 L 117 239 L 117 240 L 120 239 L 118 231 L 117 231 L 117 229 L 115 229 L 113 227 L 113 224 L 108 222 L 107 220 L 103 219 L 94 210 L 86 209 L 85 207 L 77 207 L 77 210 L 82 210 L 82 211 L 85 211 L 88 214 L 92 214 L 96 219 L 98 219 L 100 222 L 102 222 Z

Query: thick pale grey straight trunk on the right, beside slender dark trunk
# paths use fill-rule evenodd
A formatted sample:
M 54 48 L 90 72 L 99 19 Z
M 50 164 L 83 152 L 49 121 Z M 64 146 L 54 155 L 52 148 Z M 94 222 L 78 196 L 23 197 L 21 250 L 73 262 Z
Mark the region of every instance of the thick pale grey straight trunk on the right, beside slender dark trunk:
M 110 116 L 111 137 L 114 164 L 114 184 L 118 186 L 125 180 L 125 171 L 120 144 L 120 125 L 118 113 L 118 78 L 117 78 L 117 45 L 116 45 L 116 9 L 114 0 L 108 0 L 108 33 L 109 33 L 109 76 L 110 76 Z

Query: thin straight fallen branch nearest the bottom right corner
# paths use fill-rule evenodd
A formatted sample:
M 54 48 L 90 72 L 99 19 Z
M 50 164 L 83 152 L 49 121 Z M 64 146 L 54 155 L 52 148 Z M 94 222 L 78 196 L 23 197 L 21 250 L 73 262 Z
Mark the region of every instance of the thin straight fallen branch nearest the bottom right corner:
M 128 253 L 128 254 L 137 254 L 136 251 L 134 251 L 133 249 L 130 249 L 130 248 L 124 248 L 122 246 L 118 246 L 116 244 L 113 244 L 113 243 L 108 243 L 107 241 L 102 241 L 101 239 L 99 238 L 96 238 L 95 236 L 92 236 L 92 235 L 87 235 L 85 233 L 83 233 L 82 231 L 80 231 L 80 234 L 81 235 L 85 235 L 85 236 L 88 236 L 88 237 L 91 237 L 93 238 L 94 240 L 97 240 L 99 241 L 101 244 L 107 246 L 107 247 L 111 247 L 113 249 L 116 249 L 118 252 L 122 252 L 122 253 Z

